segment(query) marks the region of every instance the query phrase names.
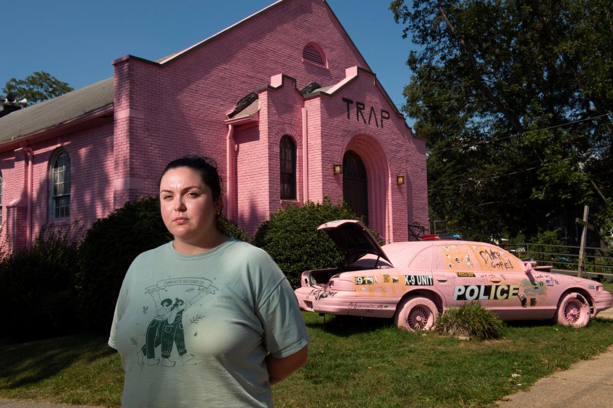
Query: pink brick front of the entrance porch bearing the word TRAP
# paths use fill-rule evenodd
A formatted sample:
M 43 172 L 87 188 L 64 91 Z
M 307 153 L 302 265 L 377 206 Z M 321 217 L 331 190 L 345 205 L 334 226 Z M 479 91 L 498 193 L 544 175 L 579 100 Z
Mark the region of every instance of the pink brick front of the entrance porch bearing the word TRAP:
M 342 98 L 352 101 L 349 117 L 348 103 Z M 310 161 L 316 163 L 310 164 L 310 172 L 312 169 L 314 175 L 319 174 L 322 179 L 321 187 L 313 189 L 311 198 L 319 200 L 322 196 L 330 196 L 334 200 L 343 196 L 343 177 L 332 174 L 332 165 L 343 163 L 343 154 L 354 150 L 367 169 L 371 227 L 388 241 L 406 240 L 407 224 L 424 220 L 424 215 L 427 218 L 424 212 L 427 209 L 427 180 L 421 167 L 425 169 L 424 141 L 414 138 L 403 119 L 395 117 L 393 108 L 374 85 L 374 76 L 370 73 L 360 71 L 354 81 L 333 97 L 321 96 L 320 99 L 321 122 L 315 118 L 310 120 L 308 132 L 309 141 L 313 139 L 309 144 Z M 364 105 L 361 113 L 357 111 L 357 103 Z M 315 103 L 313 105 L 316 107 Z M 387 114 L 381 113 L 382 109 L 389 113 L 383 125 L 381 116 L 387 117 Z M 408 184 L 395 184 L 398 174 L 410 178 L 411 187 L 424 193 L 408 195 Z M 415 208 L 419 209 L 419 214 L 415 213 Z

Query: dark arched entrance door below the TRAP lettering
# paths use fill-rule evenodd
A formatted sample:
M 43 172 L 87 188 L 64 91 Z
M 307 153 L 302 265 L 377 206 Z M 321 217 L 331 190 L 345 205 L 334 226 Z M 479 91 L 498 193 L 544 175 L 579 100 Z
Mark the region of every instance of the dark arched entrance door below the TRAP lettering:
M 362 158 L 353 150 L 343 156 L 343 199 L 368 224 L 368 178 Z

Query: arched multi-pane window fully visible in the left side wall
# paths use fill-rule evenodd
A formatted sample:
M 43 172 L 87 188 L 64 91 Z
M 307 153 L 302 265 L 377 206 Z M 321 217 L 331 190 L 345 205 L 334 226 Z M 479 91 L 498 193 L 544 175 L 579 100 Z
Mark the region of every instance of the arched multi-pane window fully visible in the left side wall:
M 64 149 L 51 160 L 51 218 L 70 218 L 70 157 Z

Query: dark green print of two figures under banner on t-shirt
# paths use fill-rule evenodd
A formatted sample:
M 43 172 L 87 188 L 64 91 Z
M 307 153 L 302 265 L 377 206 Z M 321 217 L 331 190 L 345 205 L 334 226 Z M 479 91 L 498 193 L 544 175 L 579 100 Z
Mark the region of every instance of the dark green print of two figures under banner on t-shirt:
M 145 294 L 153 299 L 155 316 L 145 332 L 145 344 L 137 352 L 139 365 L 147 362 L 150 366 L 174 367 L 177 362 L 170 360 L 173 347 L 176 347 L 183 364 L 194 358 L 186 348 L 183 312 L 198 300 L 219 290 L 211 283 L 205 278 L 169 278 L 145 288 Z M 148 310 L 153 311 L 153 308 L 143 306 L 143 314 L 147 314 Z M 189 319 L 189 324 L 196 324 L 202 318 L 204 316 L 196 314 Z M 137 343 L 132 341 L 132 344 Z

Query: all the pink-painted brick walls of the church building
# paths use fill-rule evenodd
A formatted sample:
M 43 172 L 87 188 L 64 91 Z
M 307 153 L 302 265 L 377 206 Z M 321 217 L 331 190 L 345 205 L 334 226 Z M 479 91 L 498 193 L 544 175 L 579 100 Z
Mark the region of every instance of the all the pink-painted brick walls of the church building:
M 303 46 L 317 43 L 329 67 L 302 61 Z M 320 201 L 342 198 L 342 177 L 332 175 L 347 149 L 356 150 L 369 172 L 371 225 L 387 240 L 406 240 L 406 224 L 427 225 L 425 143 L 394 117 L 375 78 L 359 78 L 334 97 L 308 100 L 297 93 L 311 81 L 331 86 L 344 80 L 345 69 L 366 62 L 322 0 L 288 0 L 243 21 L 212 40 L 164 65 L 124 57 L 114 62 L 114 120 L 32 145 L 34 159 L 34 236 L 49 219 L 48 169 L 58 147 L 72 163 L 70 220 L 96 218 L 139 195 L 157 195 L 162 169 L 174 158 L 196 152 L 214 158 L 227 183 L 226 112 L 271 76 L 289 75 L 278 89 L 259 91 L 260 121 L 235 129 L 235 205 L 230 218 L 253 234 L 259 222 L 303 196 L 302 108 L 307 108 L 309 196 Z M 342 97 L 354 100 L 347 119 Z M 356 102 L 386 109 L 384 128 L 356 119 Z M 380 121 L 380 117 L 378 117 Z M 379 124 L 380 126 L 380 124 Z M 281 201 L 279 142 L 290 135 L 297 144 L 297 199 Z M 3 202 L 21 196 L 25 185 L 23 151 L 0 155 L 5 182 Z M 395 185 L 405 174 L 407 184 Z M 226 209 L 227 201 L 224 202 Z M 9 210 L 5 212 L 10 213 Z M 15 207 L 15 222 L 23 218 Z M 66 222 L 56 224 L 66 226 Z M 6 231 L 3 233 L 6 234 Z M 17 234 L 19 235 L 19 234 Z M 17 242 L 17 241 L 15 241 Z M 20 244 L 21 245 L 21 244 Z

